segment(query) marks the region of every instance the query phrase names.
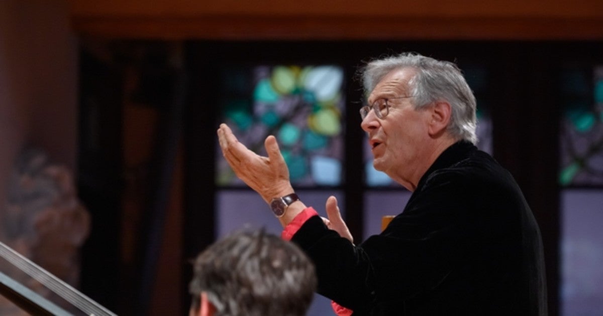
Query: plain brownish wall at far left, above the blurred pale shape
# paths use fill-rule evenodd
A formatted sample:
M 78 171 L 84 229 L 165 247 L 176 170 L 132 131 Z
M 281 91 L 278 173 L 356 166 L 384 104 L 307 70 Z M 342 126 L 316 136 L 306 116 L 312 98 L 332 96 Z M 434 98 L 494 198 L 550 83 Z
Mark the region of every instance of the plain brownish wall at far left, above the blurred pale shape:
M 36 146 L 74 170 L 77 40 L 64 0 L 0 1 L 0 205 L 18 153 Z M 0 214 L 4 208 L 0 209 Z

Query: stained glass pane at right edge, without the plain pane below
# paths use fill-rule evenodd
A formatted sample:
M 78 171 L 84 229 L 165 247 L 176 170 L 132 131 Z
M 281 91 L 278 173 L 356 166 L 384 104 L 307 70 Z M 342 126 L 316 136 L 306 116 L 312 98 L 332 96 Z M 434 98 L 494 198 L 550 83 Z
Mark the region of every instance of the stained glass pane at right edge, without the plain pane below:
M 603 185 L 603 66 L 561 76 L 561 185 Z

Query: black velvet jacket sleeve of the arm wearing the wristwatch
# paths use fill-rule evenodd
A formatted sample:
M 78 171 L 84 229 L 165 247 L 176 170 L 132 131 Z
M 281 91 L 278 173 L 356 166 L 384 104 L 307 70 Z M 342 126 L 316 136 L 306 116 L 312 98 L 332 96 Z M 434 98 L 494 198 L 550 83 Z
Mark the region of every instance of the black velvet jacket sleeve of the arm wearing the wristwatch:
M 320 217 L 309 218 L 292 241 L 314 261 L 318 293 L 366 311 L 377 301 L 400 301 L 446 278 L 466 251 L 459 227 L 466 200 L 458 183 L 439 178 L 415 193 L 382 234 L 359 246 L 327 229 Z

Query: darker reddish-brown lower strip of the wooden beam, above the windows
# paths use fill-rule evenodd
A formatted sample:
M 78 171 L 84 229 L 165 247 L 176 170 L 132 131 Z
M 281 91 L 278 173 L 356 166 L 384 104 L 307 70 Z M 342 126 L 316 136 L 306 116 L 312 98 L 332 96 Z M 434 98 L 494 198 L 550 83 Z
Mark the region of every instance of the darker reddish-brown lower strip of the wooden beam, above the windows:
M 603 17 L 74 17 L 72 25 L 82 35 L 119 39 L 603 40 Z

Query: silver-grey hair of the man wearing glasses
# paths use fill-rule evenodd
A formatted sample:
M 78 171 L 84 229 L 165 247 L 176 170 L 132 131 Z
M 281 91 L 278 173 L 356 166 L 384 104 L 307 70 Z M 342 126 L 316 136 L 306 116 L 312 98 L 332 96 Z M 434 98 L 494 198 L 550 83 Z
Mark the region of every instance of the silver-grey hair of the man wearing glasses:
M 454 63 L 411 52 L 370 61 L 359 70 L 366 95 L 385 75 L 405 67 L 417 71 L 409 81 L 409 93 L 414 96 L 415 108 L 426 107 L 435 101 L 447 101 L 452 107 L 447 131 L 453 137 L 477 143 L 475 96 Z

